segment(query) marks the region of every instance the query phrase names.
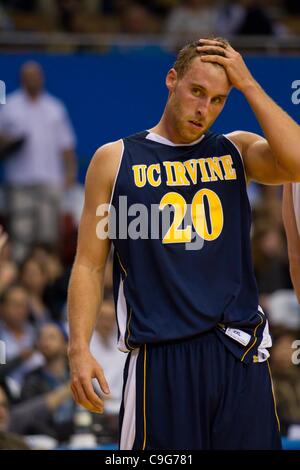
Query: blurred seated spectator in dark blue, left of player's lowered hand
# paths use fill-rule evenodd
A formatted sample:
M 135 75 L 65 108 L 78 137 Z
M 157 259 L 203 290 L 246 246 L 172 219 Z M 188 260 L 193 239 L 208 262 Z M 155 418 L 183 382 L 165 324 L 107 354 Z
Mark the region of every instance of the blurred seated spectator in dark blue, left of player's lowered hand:
M 58 440 L 68 439 L 73 432 L 74 402 L 69 385 L 66 340 L 66 334 L 58 324 L 47 323 L 41 327 L 37 349 L 44 358 L 44 365 L 26 375 L 21 393 L 22 400 L 28 401 L 61 391 L 59 406 L 53 413 L 48 413 L 46 420 L 37 421 L 30 429 L 31 433 L 43 432 Z

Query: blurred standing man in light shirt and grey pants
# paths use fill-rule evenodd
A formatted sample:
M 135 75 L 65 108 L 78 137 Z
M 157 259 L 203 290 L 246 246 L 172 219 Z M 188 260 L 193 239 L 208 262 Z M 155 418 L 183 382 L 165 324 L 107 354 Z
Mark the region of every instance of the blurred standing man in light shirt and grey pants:
M 76 179 L 74 132 L 63 103 L 44 91 L 38 63 L 23 65 L 21 85 L 0 113 L 0 135 L 23 139 L 5 160 L 9 231 L 18 262 L 37 241 L 57 243 L 61 193 Z

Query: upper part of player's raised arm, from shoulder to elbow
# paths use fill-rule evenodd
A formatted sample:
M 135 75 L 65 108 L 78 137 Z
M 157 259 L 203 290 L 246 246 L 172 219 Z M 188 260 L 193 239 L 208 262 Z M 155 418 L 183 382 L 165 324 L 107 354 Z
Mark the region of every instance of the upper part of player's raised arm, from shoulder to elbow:
M 228 137 L 238 146 L 243 156 L 248 181 L 262 184 L 283 184 L 298 181 L 296 172 L 290 173 L 280 165 L 266 139 L 252 132 L 236 131 Z

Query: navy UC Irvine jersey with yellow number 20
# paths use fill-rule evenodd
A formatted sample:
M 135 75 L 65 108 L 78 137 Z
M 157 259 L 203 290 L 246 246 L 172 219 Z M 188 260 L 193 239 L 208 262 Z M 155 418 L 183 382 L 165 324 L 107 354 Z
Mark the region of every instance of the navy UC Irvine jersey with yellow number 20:
M 238 149 L 212 132 L 186 145 L 148 131 L 123 143 L 111 201 L 121 349 L 216 328 L 233 352 L 259 360 L 266 320 Z

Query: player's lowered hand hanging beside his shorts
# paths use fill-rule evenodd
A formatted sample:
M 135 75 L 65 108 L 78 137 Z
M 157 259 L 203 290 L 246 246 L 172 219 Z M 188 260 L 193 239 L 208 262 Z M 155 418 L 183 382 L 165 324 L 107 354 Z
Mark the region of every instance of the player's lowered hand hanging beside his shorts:
M 71 391 L 78 405 L 93 413 L 103 413 L 103 399 L 97 395 L 92 380 L 96 379 L 103 393 L 110 394 L 104 372 L 89 350 L 69 353 Z

